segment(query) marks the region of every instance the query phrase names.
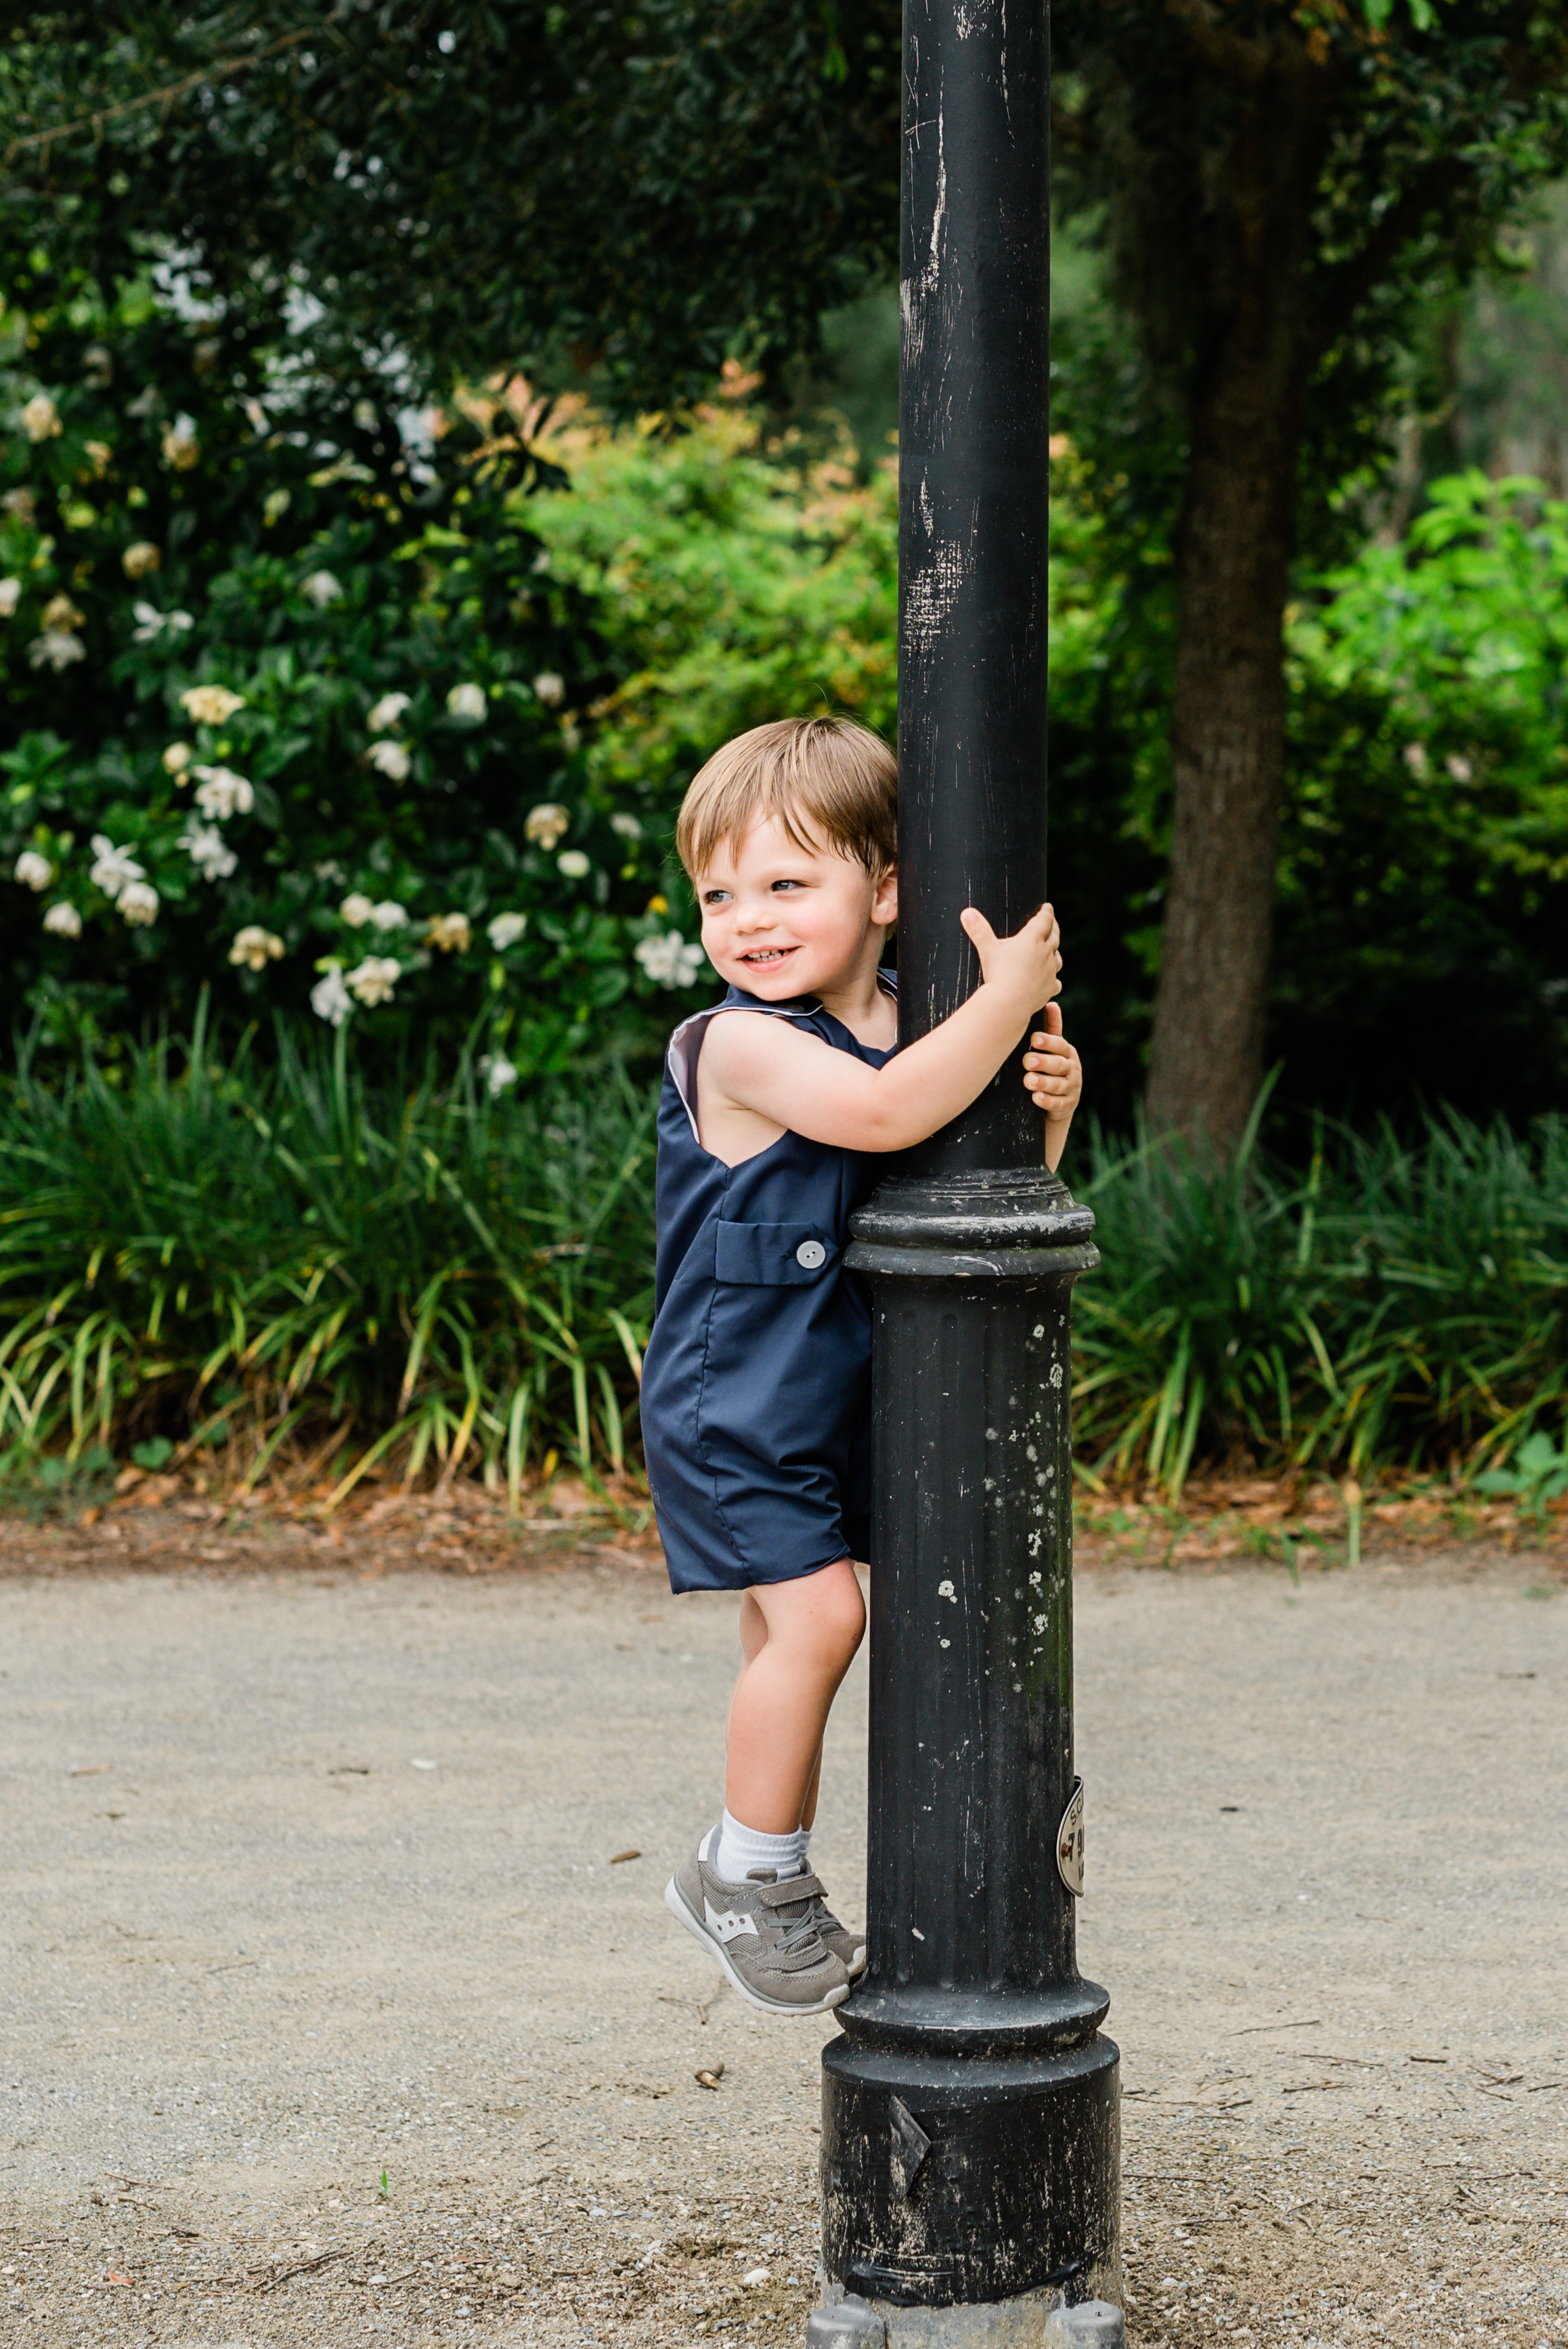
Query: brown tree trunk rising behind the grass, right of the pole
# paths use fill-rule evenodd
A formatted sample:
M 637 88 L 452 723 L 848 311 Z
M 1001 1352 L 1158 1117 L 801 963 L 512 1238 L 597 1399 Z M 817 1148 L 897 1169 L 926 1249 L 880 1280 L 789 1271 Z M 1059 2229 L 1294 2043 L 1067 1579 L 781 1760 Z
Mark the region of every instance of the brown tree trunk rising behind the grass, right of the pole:
M 1305 59 L 1277 47 L 1275 70 L 1237 106 L 1223 209 L 1192 223 L 1207 298 L 1176 538 L 1171 871 L 1145 1106 L 1155 1128 L 1202 1130 L 1221 1149 L 1235 1146 L 1263 1083 L 1326 99 Z

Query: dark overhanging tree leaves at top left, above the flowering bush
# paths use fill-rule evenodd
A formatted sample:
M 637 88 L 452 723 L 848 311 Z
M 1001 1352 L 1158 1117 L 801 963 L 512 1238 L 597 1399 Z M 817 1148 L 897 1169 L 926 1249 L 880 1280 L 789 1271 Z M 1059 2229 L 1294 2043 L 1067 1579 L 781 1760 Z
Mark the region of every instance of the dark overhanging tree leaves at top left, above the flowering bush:
M 622 406 L 786 357 L 897 249 L 894 0 L 77 0 L 0 47 L 0 240 L 176 237 L 275 331 L 425 383 L 556 357 Z

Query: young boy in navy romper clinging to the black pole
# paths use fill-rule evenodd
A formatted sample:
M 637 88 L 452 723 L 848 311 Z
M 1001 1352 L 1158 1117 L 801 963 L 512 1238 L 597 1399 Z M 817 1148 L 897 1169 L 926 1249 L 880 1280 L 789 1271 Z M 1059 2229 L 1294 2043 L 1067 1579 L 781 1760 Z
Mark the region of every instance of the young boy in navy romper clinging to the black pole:
M 1056 1165 L 1082 1090 L 1049 904 L 960 916 L 981 987 L 897 1052 L 897 768 L 861 726 L 753 726 L 676 829 L 728 996 L 669 1043 L 643 1440 L 676 1590 L 739 1590 L 725 1811 L 664 1900 L 753 2006 L 838 2006 L 866 1964 L 810 1872 L 822 1731 L 866 1628 L 871 1315 L 850 1214 L 887 1153 L 976 1099 L 1042 1003 L 1023 1083 Z M 744 1017 L 739 1017 L 744 1015 Z

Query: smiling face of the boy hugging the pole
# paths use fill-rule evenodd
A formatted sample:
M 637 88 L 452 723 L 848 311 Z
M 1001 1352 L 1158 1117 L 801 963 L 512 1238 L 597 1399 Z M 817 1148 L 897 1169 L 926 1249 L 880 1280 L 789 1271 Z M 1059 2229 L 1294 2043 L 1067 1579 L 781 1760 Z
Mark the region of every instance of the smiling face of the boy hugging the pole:
M 697 907 L 718 977 L 765 1003 L 786 1003 L 857 977 L 899 914 L 899 883 L 892 874 L 873 881 L 826 843 L 796 848 L 770 815 L 697 874 Z

